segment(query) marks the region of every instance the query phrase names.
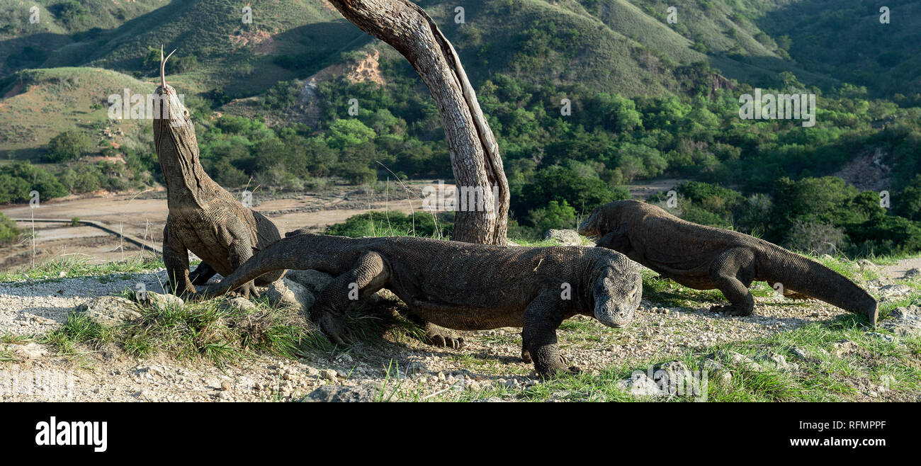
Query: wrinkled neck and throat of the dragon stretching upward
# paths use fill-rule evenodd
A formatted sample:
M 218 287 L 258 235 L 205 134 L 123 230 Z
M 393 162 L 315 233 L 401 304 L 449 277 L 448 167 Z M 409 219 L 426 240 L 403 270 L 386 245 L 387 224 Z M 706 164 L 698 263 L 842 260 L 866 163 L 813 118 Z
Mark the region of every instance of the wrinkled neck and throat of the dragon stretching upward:
M 213 181 L 198 160 L 198 141 L 189 111 L 182 106 L 172 86 L 157 87 L 155 92 L 159 107 L 154 111 L 154 145 L 167 185 L 169 207 L 188 204 L 204 207 L 214 196 Z

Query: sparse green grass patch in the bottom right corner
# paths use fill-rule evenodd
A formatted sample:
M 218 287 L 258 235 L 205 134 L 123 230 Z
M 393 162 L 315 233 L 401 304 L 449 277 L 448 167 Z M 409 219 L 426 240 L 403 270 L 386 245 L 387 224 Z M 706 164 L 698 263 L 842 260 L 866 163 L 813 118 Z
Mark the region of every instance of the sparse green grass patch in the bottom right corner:
M 859 348 L 857 354 L 835 355 L 834 344 L 850 341 Z M 901 342 L 901 344 L 900 344 Z M 793 348 L 805 351 L 803 358 Z M 707 373 L 706 400 L 710 402 L 845 402 L 866 400 L 864 389 L 888 385 L 886 393 L 896 400 L 912 400 L 921 392 L 921 367 L 915 360 L 921 348 L 918 338 L 886 342 L 869 335 L 857 319 L 850 316 L 829 323 L 813 323 L 789 332 L 732 344 L 717 344 L 703 350 L 688 352 L 677 359 L 692 371 Z M 725 355 L 729 352 L 752 357 L 763 366 L 758 371 L 745 364 L 733 365 Z M 784 355 L 787 363 L 799 368 L 778 371 L 757 361 L 758 357 L 776 353 Z M 725 369 L 705 368 L 707 357 L 720 360 Z M 617 382 L 629 379 L 635 371 L 646 373 L 648 367 L 674 360 L 651 359 L 607 367 L 598 375 L 579 374 L 548 380 L 524 390 L 494 386 L 479 392 L 464 392 L 460 401 L 472 401 L 491 396 L 523 402 L 545 402 L 552 399 L 586 402 L 651 401 L 650 397 L 635 397 L 616 388 Z M 481 367 L 475 364 L 478 370 Z M 729 370 L 731 379 L 721 379 L 720 370 Z M 863 387 L 864 389 L 861 389 Z M 657 401 L 693 402 L 700 397 L 688 393 Z M 888 399 L 888 398 L 880 398 Z M 451 398 L 451 400 L 454 400 Z

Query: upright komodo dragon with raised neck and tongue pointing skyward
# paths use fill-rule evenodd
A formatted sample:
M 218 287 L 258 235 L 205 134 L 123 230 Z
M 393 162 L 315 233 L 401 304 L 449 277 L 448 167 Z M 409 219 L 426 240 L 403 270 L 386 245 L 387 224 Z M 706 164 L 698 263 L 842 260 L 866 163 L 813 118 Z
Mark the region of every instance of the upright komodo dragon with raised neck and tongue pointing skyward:
M 176 52 L 176 51 L 173 51 Z M 169 56 L 172 52 L 169 53 Z M 154 143 L 167 185 L 169 215 L 163 228 L 163 262 L 176 295 L 195 292 L 219 273 L 224 276 L 281 239 L 272 220 L 244 207 L 204 172 L 198 160 L 198 141 L 189 111 L 176 89 L 169 86 L 164 68 L 169 56 L 160 50 L 160 86 L 156 97 L 160 109 L 154 115 Z M 189 274 L 189 251 L 202 259 Z M 268 285 L 285 274 L 273 271 L 255 278 L 239 291 L 244 297 L 259 296 L 255 285 Z

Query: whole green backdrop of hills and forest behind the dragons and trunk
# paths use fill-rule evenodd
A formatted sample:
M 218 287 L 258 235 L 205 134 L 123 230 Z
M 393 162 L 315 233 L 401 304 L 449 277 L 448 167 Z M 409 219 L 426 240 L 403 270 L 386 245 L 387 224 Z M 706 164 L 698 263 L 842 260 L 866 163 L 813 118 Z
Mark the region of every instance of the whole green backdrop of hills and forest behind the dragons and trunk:
M 798 249 L 921 250 L 919 1 L 417 3 L 495 131 L 514 234 L 670 177 L 689 181 L 675 191 L 694 221 Z M 51 197 L 157 184 L 149 122 L 111 120 L 109 98 L 155 86 L 161 43 L 228 188 L 450 178 L 437 111 L 399 54 L 322 0 L 248 6 L 0 5 L 0 202 L 39 181 Z M 814 126 L 741 119 L 756 88 L 815 95 Z

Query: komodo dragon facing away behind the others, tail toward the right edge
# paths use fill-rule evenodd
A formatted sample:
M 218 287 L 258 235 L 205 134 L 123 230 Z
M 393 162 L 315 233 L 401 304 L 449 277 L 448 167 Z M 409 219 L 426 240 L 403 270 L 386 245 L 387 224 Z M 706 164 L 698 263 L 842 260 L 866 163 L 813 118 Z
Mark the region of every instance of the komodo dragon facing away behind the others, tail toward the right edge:
M 729 306 L 711 310 L 751 314 L 748 287 L 764 281 L 867 316 L 876 325 L 876 299 L 843 275 L 763 239 L 687 222 L 657 205 L 632 200 L 601 205 L 578 232 L 681 285 L 722 291 Z

